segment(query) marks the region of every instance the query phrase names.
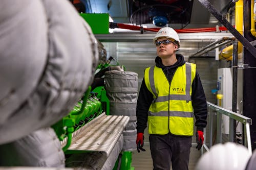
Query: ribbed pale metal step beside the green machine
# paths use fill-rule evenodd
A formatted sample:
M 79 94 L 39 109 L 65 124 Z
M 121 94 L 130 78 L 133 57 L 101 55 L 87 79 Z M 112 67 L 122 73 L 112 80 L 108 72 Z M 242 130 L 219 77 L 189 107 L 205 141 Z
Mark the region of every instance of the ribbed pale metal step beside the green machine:
M 101 151 L 108 157 L 129 119 L 129 116 L 105 115 L 105 113 L 102 113 L 72 133 L 72 142 L 68 150 Z M 62 147 L 66 143 L 67 138 L 61 141 Z

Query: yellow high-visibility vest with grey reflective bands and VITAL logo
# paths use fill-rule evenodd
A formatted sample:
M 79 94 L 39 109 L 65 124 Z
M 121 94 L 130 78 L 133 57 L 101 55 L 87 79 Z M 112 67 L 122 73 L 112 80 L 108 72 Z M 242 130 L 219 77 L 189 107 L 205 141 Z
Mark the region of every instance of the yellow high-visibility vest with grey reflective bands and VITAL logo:
M 148 110 L 148 134 L 193 136 L 191 84 L 195 75 L 196 64 L 192 63 L 178 67 L 170 83 L 162 68 L 145 69 L 145 84 L 154 96 Z

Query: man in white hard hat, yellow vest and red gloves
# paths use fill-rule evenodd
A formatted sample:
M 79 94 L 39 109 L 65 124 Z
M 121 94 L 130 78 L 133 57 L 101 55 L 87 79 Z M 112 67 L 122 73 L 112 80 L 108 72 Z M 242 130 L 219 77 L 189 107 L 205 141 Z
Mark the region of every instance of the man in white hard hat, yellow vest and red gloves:
M 207 105 L 196 65 L 186 63 L 176 54 L 180 47 L 177 32 L 160 29 L 154 42 L 156 65 L 144 72 L 137 101 L 137 150 L 145 151 L 143 133 L 148 123 L 150 150 L 154 169 L 188 169 L 194 115 L 197 127 L 197 149 L 204 141 Z

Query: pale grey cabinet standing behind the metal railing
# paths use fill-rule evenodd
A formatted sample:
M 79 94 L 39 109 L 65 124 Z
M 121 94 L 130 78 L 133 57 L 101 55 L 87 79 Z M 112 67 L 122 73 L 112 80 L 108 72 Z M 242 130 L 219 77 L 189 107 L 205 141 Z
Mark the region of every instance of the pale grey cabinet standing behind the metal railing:
M 243 74 L 242 69 L 238 70 L 238 86 L 237 86 L 237 113 L 243 113 Z M 232 111 L 232 94 L 233 94 L 233 77 L 232 68 L 218 69 L 218 94 L 222 99 L 218 99 L 218 106 Z M 229 117 L 222 115 L 222 133 L 229 134 Z M 242 133 L 242 125 L 237 125 L 237 134 Z

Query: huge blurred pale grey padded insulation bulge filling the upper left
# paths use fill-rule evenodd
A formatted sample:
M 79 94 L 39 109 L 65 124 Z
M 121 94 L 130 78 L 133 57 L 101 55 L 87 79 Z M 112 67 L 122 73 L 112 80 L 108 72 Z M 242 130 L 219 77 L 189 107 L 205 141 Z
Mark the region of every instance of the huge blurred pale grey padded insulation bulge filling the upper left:
M 92 83 L 98 48 L 67 0 L 2 0 L 0 144 L 66 116 Z

